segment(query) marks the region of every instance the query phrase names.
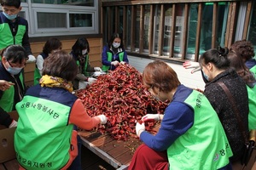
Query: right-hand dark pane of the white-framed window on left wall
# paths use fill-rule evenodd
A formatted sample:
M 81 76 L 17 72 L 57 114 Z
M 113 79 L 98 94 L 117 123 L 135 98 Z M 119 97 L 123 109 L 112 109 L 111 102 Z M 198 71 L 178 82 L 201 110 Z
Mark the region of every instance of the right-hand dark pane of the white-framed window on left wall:
M 70 27 L 91 27 L 92 14 L 69 14 Z

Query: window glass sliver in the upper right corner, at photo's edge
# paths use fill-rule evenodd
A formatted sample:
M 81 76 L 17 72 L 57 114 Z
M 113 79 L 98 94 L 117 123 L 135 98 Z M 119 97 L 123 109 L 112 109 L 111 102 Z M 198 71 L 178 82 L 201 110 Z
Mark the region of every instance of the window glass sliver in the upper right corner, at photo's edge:
M 253 4 L 253 12 L 251 15 L 251 21 L 248 31 L 247 40 L 253 43 L 254 52 L 256 54 L 256 3 Z M 256 55 L 254 56 L 256 59 Z

